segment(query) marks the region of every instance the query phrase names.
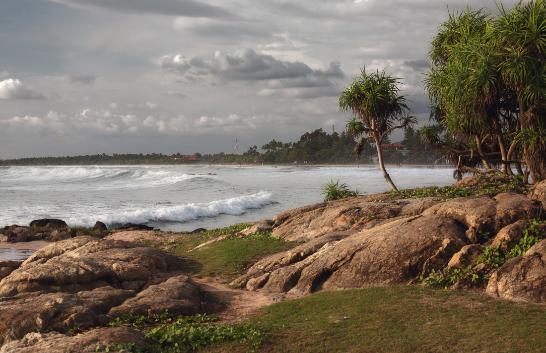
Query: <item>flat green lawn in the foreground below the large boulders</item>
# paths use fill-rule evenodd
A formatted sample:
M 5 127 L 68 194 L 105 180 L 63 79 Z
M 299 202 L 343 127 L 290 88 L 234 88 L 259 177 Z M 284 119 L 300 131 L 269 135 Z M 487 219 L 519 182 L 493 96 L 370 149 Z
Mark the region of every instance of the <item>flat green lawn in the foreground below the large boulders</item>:
M 542 352 L 543 305 L 391 286 L 323 292 L 245 321 L 272 330 L 258 352 Z M 237 344 L 204 352 L 244 352 Z

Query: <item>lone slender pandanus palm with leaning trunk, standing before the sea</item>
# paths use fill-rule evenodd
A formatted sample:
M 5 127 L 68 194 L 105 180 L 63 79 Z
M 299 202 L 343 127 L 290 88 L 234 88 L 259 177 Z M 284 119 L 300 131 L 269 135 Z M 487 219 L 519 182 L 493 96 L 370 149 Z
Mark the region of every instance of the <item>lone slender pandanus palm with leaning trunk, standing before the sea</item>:
M 381 142 L 384 137 L 395 129 L 412 127 L 416 118 L 409 115 L 407 99 L 399 95 L 400 82 L 396 77 L 385 75 L 385 69 L 366 74 L 366 68 L 360 69 L 360 75 L 355 76 L 353 83 L 341 92 L 338 106 L 342 112 L 351 112 L 353 118 L 345 128 L 352 137 L 361 137 L 354 147 L 354 155 L 360 158 L 366 140 L 373 140 L 377 149 L 379 167 L 390 188 L 397 190 L 390 179 L 385 165 Z

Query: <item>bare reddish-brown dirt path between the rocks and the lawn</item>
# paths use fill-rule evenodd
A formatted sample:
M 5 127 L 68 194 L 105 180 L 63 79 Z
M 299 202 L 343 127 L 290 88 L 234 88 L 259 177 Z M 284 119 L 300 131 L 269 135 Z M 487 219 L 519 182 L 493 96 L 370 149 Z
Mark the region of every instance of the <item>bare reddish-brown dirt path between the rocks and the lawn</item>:
M 286 293 L 263 293 L 259 291 L 231 289 L 227 284 L 222 283 L 225 280 L 223 278 L 201 277 L 193 278 L 193 280 L 202 289 L 217 296 L 215 298 L 216 304 L 213 305 L 212 309 L 221 318 L 217 322 L 218 324 L 233 324 L 256 315 L 259 308 L 301 297 Z M 222 300 L 228 301 L 227 305 L 221 303 Z

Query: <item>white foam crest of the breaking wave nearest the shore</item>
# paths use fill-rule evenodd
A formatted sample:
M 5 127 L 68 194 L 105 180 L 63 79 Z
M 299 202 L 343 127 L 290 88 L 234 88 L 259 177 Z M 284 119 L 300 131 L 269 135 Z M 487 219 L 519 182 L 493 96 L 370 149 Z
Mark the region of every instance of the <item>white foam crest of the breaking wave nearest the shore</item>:
M 123 223 L 146 223 L 149 221 L 163 220 L 170 222 L 185 222 L 199 217 L 216 217 L 219 214 L 232 214 L 238 216 L 251 208 L 262 208 L 265 205 L 275 204 L 276 201 L 268 192 L 238 196 L 236 198 L 215 200 L 203 203 L 191 203 L 185 205 L 154 207 L 134 210 L 108 212 L 104 214 L 89 215 L 86 217 L 70 217 L 66 222 L 70 226 L 91 227 L 97 220 L 106 225 Z

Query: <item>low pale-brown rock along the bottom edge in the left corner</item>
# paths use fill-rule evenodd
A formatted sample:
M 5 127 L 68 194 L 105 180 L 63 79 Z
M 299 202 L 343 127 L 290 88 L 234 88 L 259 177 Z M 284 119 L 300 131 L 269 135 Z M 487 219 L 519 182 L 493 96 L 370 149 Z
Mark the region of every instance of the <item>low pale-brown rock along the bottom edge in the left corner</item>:
M 0 353 L 91 353 L 97 346 L 104 349 L 108 344 L 135 343 L 144 345 L 142 332 L 127 326 L 103 327 L 77 336 L 58 332 L 28 333 L 23 339 L 6 343 Z

